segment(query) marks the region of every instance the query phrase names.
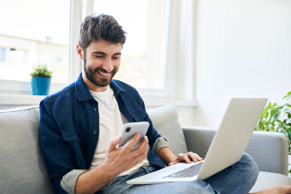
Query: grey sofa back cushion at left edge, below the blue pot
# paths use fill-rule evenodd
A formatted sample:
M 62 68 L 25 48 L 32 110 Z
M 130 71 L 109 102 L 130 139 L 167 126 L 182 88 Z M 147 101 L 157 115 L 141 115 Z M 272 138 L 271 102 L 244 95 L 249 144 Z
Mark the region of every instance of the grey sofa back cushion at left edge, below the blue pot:
M 1 193 L 54 193 L 38 144 L 38 106 L 0 110 Z

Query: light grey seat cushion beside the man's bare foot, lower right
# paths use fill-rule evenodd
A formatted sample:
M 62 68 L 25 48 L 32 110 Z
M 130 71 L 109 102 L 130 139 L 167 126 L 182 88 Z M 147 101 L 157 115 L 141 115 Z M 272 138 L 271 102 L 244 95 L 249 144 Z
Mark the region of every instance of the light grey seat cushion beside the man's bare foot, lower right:
M 260 191 L 273 185 L 291 185 L 291 178 L 286 175 L 260 171 L 258 179 L 250 192 Z

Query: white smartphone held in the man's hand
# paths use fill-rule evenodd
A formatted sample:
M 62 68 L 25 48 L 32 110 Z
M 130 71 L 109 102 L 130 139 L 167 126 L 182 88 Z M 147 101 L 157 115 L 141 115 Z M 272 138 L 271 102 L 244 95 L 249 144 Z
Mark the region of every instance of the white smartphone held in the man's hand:
M 146 132 L 148 131 L 149 126 L 150 126 L 150 124 L 147 121 L 125 123 L 123 125 L 123 130 L 122 130 L 122 134 L 121 134 L 121 141 L 117 146 L 120 147 L 120 146 L 125 145 L 129 140 L 131 140 L 133 138 L 133 136 L 136 133 L 140 133 L 141 136 L 139 138 L 139 141 L 134 145 L 134 147 L 131 150 L 136 149 L 137 147 L 139 147 L 139 145 L 143 141 L 143 138 L 144 138 Z

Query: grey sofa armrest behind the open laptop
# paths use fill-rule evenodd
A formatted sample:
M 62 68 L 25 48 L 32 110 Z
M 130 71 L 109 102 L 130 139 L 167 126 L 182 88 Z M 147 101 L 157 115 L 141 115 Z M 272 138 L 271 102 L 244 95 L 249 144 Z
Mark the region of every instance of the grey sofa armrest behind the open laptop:
M 182 126 L 187 149 L 205 157 L 216 129 Z M 288 175 L 288 141 L 284 134 L 254 131 L 245 150 L 258 164 L 260 171 Z

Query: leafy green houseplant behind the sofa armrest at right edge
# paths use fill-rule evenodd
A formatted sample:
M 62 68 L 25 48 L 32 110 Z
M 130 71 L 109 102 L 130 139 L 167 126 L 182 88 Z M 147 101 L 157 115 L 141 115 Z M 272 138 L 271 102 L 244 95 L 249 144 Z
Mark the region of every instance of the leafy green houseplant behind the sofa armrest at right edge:
M 277 103 L 269 102 L 265 107 L 255 131 L 275 131 L 286 135 L 288 140 L 288 151 L 291 155 L 291 92 L 288 92 L 283 99 L 286 103 L 279 106 Z M 289 101 L 288 101 L 289 100 Z M 291 170 L 289 170 L 291 173 Z

